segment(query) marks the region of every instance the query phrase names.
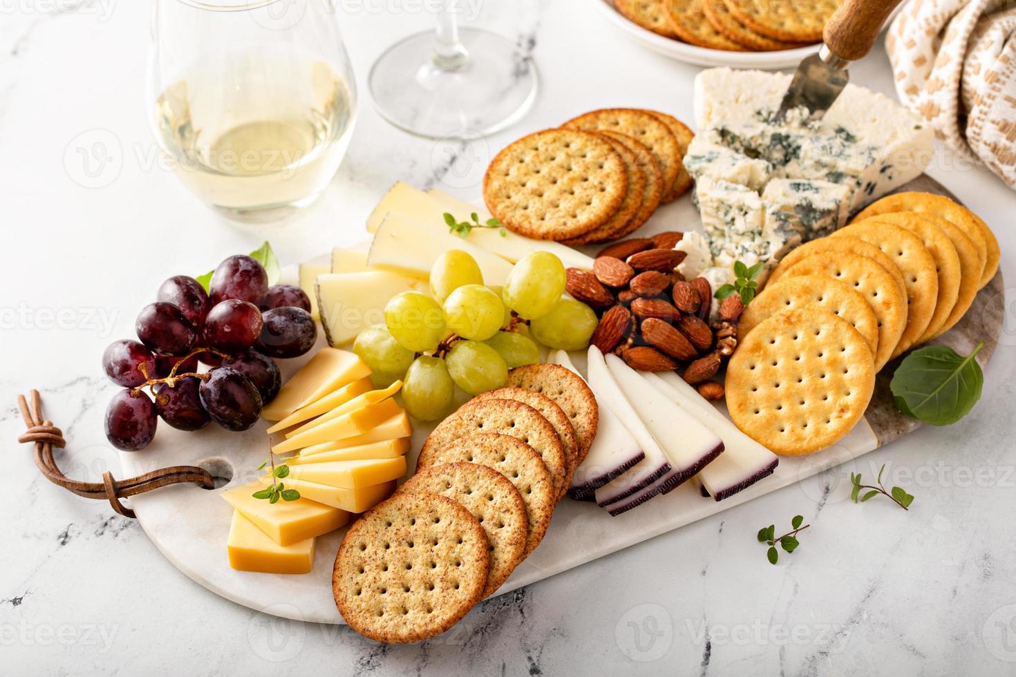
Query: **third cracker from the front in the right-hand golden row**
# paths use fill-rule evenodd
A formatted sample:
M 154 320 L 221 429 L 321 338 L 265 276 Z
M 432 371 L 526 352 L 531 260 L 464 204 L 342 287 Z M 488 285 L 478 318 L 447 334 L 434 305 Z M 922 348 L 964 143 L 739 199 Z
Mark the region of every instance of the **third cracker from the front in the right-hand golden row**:
M 856 254 L 825 252 L 791 266 L 784 275 L 825 275 L 845 282 L 861 293 L 879 322 L 879 349 L 875 354 L 875 370 L 879 371 L 886 365 L 906 328 L 907 312 L 906 296 L 885 268 L 874 260 Z

